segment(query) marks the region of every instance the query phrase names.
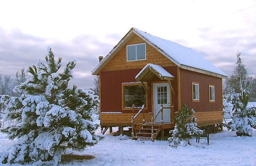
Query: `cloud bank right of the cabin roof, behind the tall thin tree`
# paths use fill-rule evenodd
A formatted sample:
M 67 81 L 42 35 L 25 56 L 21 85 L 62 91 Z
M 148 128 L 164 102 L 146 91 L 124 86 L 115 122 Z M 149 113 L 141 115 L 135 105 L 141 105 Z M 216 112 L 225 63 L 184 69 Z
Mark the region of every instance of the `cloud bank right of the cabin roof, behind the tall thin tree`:
M 256 27 L 255 21 L 254 24 Z M 241 52 L 243 63 L 248 69 L 248 75 L 255 76 L 255 36 L 256 30 L 253 26 L 233 30 L 215 30 L 206 27 L 200 29 L 201 44 L 192 48 L 228 75 L 232 74 L 236 65 L 237 52 Z

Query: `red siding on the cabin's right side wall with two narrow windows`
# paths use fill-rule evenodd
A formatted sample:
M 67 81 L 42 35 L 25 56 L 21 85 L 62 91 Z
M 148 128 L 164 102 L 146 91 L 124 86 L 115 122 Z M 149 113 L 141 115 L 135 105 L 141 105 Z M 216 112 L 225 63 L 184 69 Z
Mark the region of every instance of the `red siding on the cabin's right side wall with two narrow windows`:
M 222 110 L 222 78 L 213 77 L 189 70 L 180 70 L 181 105 L 188 105 L 196 112 L 221 111 Z M 192 82 L 199 82 L 199 100 L 192 102 Z M 214 85 L 215 102 L 209 102 L 209 84 Z

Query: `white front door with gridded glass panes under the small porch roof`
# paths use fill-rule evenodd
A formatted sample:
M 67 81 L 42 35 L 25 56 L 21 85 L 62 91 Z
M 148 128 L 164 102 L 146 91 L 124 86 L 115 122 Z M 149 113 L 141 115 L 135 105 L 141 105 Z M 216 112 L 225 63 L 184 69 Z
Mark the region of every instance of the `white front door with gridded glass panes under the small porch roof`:
M 154 116 L 159 111 L 161 104 L 163 107 L 170 106 L 170 86 L 168 83 L 154 84 Z M 163 122 L 170 123 L 170 120 L 170 109 L 163 109 Z M 161 123 L 161 112 L 155 119 L 155 123 Z

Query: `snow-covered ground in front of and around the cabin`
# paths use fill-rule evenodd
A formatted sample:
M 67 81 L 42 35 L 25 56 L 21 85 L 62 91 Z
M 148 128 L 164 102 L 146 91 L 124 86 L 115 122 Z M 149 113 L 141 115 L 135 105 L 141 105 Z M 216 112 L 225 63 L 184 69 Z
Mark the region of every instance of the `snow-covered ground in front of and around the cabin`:
M 113 129 L 115 130 L 117 128 Z M 100 129 L 97 133 L 100 133 Z M 0 133 L 0 151 L 13 143 L 5 136 Z M 201 139 L 199 144 L 192 139 L 191 144 L 192 146 L 173 148 L 167 141 L 131 141 L 127 136 L 105 135 L 103 141 L 80 152 L 93 155 L 94 159 L 61 165 L 256 165 L 256 130 L 252 137 L 240 137 L 224 128 L 220 133 L 210 134 L 210 145 L 207 145 L 205 139 Z

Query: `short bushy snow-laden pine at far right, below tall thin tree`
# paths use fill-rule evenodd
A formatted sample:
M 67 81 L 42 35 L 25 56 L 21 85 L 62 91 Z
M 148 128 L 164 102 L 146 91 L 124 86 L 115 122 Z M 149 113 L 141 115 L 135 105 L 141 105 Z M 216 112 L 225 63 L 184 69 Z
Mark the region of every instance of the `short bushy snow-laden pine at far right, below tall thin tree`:
M 224 124 L 228 130 L 236 131 L 238 136 L 252 136 L 253 128 L 256 129 L 256 108 L 247 108 L 248 99 L 248 94 L 243 92 L 239 96 L 239 102 L 234 104 L 236 112 L 232 121 Z

